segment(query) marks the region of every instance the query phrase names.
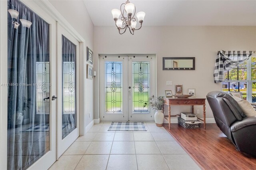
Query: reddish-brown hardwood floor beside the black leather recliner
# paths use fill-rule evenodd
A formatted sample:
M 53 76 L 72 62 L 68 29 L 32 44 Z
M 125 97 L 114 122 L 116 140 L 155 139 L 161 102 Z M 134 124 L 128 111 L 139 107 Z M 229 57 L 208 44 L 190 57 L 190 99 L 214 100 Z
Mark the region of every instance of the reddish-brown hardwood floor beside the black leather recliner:
M 206 130 L 185 129 L 178 124 L 164 128 L 177 140 L 202 169 L 256 169 L 256 158 L 236 150 L 236 147 L 220 131 L 216 124 L 206 124 Z

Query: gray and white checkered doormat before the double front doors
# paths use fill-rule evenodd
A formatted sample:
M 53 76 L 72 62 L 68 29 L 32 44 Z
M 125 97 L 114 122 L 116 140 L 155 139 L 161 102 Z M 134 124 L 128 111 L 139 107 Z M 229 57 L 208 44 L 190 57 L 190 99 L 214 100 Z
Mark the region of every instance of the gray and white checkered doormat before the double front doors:
M 108 131 L 147 131 L 144 122 L 112 122 Z

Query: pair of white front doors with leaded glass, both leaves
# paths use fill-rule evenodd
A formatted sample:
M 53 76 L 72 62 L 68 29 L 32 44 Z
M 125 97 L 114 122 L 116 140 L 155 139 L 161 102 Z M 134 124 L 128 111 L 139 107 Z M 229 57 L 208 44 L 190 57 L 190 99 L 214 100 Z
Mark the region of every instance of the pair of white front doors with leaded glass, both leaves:
M 154 56 L 100 56 L 101 121 L 153 121 Z

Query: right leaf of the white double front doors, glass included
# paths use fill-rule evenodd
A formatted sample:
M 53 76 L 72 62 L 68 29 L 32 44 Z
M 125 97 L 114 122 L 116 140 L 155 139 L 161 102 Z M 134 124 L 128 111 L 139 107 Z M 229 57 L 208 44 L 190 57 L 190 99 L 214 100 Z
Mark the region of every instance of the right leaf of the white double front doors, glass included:
M 154 112 L 148 105 L 148 98 L 155 94 L 154 59 L 154 56 L 128 57 L 129 121 L 154 121 Z

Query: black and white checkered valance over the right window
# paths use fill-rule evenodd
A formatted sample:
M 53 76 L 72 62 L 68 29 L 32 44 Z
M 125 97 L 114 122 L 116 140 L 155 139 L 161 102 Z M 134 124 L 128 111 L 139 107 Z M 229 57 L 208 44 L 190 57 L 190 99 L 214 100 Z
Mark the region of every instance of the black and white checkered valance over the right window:
M 253 51 L 218 51 L 214 67 L 214 82 L 224 81 L 224 72 L 244 63 L 252 55 Z

